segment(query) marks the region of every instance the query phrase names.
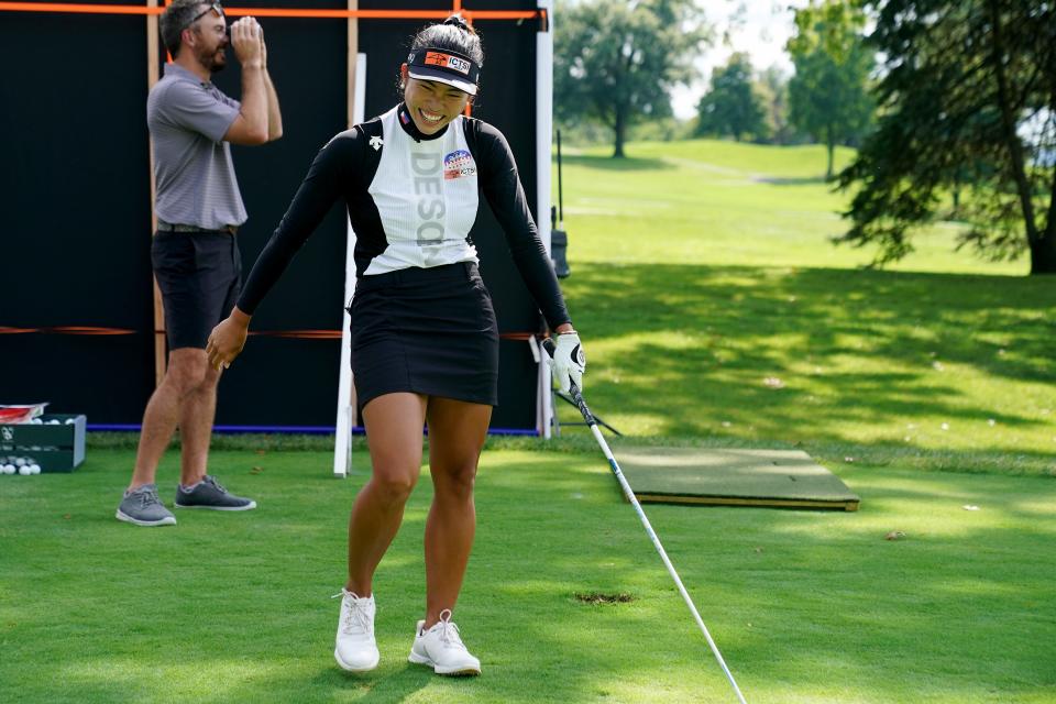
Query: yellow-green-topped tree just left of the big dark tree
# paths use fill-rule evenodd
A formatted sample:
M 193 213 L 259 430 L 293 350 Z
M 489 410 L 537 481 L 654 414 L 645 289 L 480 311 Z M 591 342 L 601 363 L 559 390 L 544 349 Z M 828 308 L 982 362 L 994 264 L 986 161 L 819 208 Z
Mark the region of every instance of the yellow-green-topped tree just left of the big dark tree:
M 789 81 L 791 121 L 827 147 L 825 177 L 833 178 L 837 144 L 856 144 L 870 127 L 867 91 L 875 61 L 865 46 L 865 14 L 851 0 L 811 0 L 795 12 L 788 50 L 795 66 Z

